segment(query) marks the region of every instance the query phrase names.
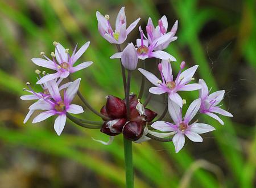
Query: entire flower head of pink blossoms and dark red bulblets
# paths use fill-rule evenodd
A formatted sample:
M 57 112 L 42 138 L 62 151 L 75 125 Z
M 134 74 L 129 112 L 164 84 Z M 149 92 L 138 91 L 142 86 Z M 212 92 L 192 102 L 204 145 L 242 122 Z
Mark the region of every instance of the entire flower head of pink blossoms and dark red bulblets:
M 113 31 L 109 22 L 109 15 L 103 16 L 97 11 L 96 17 L 98 20 L 98 31 L 101 36 L 111 44 L 117 45 L 126 41 L 127 35 L 133 31 L 140 20 L 140 18 L 138 18 L 126 28 L 125 7 L 122 7 L 115 21 L 115 30 Z M 113 140 L 113 136 L 121 133 L 125 138 L 137 143 L 150 140 L 151 138 L 165 138 L 174 135 L 172 142 L 174 143 L 176 152 L 179 152 L 184 146 L 185 136 L 193 142 L 202 142 L 203 138 L 201 138 L 199 134 L 214 130 L 214 127 L 210 125 L 198 123 L 198 120 L 190 123 L 198 112 L 217 119 L 222 125 L 224 125 L 224 122 L 216 113 L 232 117 L 232 114 L 221 109 L 221 105 L 218 105 L 224 97 L 224 90 L 210 94 L 204 80 L 199 80 L 199 83 L 190 83 L 195 80 L 193 75 L 198 68 L 197 65 L 184 70 L 185 62 L 181 62 L 180 70 L 176 77 L 172 74 L 171 61 L 176 61 L 176 59 L 163 50 L 166 49 L 172 41 L 177 40 L 175 36 L 177 24 L 176 21 L 170 32 L 167 32 L 168 22 L 166 16 L 158 20 L 156 27 L 152 23 L 151 18 L 149 18 L 146 25 L 146 35 L 142 31 L 142 28 L 139 27 L 141 39 L 137 39 L 137 45 L 134 46 L 133 43 L 130 43 L 123 52 L 115 53 L 110 57 L 121 58 L 122 66 L 127 71 L 137 69 L 138 59 L 142 59 L 143 61 L 146 58 L 162 59 L 162 62 L 158 64 L 161 79 L 147 70 L 138 70 L 154 84 L 154 87 L 149 89 L 150 93 L 155 95 L 161 95 L 163 93 L 168 94 L 168 112 L 173 122 L 160 121 L 161 119 L 152 122 L 157 114 L 150 109 L 144 108 L 144 105 L 140 102 L 141 99 L 138 99 L 137 95 L 128 94 L 129 96 L 126 96 L 126 99 L 129 97 L 129 100 L 122 100 L 109 95 L 106 97 L 106 105 L 101 108 L 100 113 L 102 114 L 102 119 L 104 119 L 101 132 L 108 134 L 110 141 Z M 41 74 L 39 70 L 36 70 L 36 73 L 39 75 L 37 84 L 42 86 L 42 91 L 35 92 L 31 88 L 30 83 L 27 83 L 28 89 L 24 88 L 24 90 L 29 92 L 30 95 L 24 95 L 20 98 L 22 100 L 37 100 L 28 108 L 29 112 L 24 119 L 24 123 L 27 122 L 35 110 L 45 110 L 36 116 L 32 123 L 40 122 L 48 117 L 57 115 L 54 129 L 56 133 L 60 135 L 64 129 L 67 113 L 79 114 L 84 112 L 81 106 L 71 104 L 79 89 L 80 78 L 76 79 L 74 82 L 68 82 L 62 85 L 61 82 L 63 79 L 67 78 L 69 74 L 85 69 L 92 65 L 93 62 L 84 62 L 73 66 L 77 59 L 79 59 L 88 48 L 89 42 L 86 42 L 77 52 L 76 45 L 71 56 L 69 55 L 69 50 L 65 49 L 60 43 L 53 42 L 53 45 L 55 45 L 55 53 L 51 53 L 52 59 L 49 59 L 41 52 L 41 55 L 45 59 L 32 58 L 32 62 L 38 66 L 55 70 L 56 72 L 54 74 L 46 74 L 46 72 L 43 71 Z M 181 112 L 186 101 L 180 97 L 179 92 L 195 90 L 199 90 L 199 99 L 194 100 L 189 105 L 183 118 Z M 60 95 L 60 91 L 63 91 L 63 98 Z M 129 104 L 127 104 L 127 102 Z M 100 142 L 110 144 L 110 142 Z

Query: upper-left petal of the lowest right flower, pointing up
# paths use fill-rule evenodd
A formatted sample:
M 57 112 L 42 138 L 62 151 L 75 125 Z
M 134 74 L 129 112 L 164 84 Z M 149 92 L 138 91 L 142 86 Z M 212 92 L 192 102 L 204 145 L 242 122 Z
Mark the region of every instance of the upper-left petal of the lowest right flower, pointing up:
M 175 122 L 176 125 L 179 125 L 181 122 L 181 108 L 177 105 L 176 102 L 172 100 L 168 100 L 168 111 L 172 118 L 172 121 Z

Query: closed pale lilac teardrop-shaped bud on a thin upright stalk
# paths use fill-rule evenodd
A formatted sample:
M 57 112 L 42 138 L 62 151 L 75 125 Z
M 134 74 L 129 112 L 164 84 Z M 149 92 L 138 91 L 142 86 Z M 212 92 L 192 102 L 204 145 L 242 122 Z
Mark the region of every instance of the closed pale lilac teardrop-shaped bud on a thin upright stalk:
M 130 43 L 122 52 L 121 61 L 125 69 L 133 71 L 138 64 L 138 55 L 133 43 Z

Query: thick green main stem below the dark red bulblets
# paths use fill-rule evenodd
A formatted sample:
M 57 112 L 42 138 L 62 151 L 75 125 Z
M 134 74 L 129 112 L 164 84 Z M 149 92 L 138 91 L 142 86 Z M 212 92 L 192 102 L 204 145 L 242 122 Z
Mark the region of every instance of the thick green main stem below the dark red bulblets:
M 131 140 L 123 137 L 123 148 L 125 150 L 126 188 L 133 188 L 133 147 Z

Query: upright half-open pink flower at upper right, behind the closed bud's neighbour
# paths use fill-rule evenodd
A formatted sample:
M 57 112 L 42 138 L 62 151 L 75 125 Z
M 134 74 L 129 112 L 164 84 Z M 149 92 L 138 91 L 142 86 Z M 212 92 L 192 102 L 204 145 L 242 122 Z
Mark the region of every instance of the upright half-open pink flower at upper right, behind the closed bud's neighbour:
M 147 31 L 147 40 L 149 44 L 154 43 L 154 41 L 158 40 L 159 37 L 168 35 L 169 36 L 168 39 L 165 42 L 163 42 L 163 44 L 157 44 L 155 46 L 155 50 L 166 49 L 172 41 L 177 40 L 177 37 L 175 36 L 177 31 L 177 25 L 178 25 L 178 21 L 175 22 L 171 31 L 167 33 L 168 21 L 166 16 L 163 16 L 160 20 L 158 20 L 158 25 L 156 26 L 156 28 L 154 27 L 151 18 L 148 18 L 146 31 Z

